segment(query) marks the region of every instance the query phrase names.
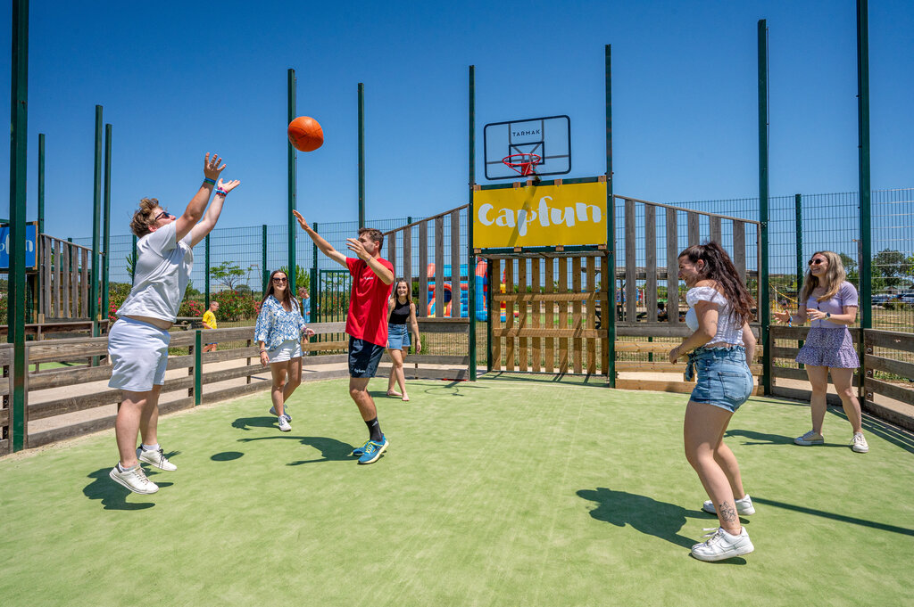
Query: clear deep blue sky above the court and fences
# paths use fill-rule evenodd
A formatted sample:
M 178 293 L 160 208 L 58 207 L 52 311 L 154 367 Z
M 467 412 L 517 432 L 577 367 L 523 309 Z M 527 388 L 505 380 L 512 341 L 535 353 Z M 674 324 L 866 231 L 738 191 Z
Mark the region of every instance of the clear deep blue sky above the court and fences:
M 47 231 L 91 234 L 94 106 L 113 125 L 112 234 L 137 201 L 181 211 L 204 152 L 240 179 L 220 227 L 281 224 L 286 69 L 324 146 L 299 153 L 299 208 L 356 219 L 356 87 L 366 88 L 367 216 L 467 199 L 467 73 L 476 127 L 568 114 L 572 175 L 604 171 L 612 45 L 615 191 L 657 202 L 758 194 L 756 24 L 768 20 L 771 194 L 857 188 L 856 3 L 40 2 L 30 7 L 28 217 L 47 136 Z M 914 186 L 914 5 L 870 3 L 873 187 Z M 0 23 L 9 82 L 10 5 Z M 0 111 L 9 115 L 9 96 Z M 0 148 L 8 166 L 9 149 Z M 0 172 L 8 201 L 8 171 Z M 482 148 L 477 181 L 484 182 Z M 7 215 L 8 216 L 8 215 Z

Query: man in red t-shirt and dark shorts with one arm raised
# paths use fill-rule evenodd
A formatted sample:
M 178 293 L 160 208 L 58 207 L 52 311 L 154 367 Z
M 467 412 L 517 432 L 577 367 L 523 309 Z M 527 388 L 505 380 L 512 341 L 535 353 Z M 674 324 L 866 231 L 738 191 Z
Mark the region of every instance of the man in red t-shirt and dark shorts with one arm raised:
M 345 319 L 345 332 L 349 334 L 349 395 L 368 426 L 366 444 L 355 449 L 353 455 L 358 455 L 359 464 L 374 464 L 388 448 L 388 439 L 377 423 L 375 400 L 368 393 L 368 380 L 375 376 L 377 363 L 388 343 L 388 299 L 394 267 L 387 259 L 381 259 L 384 235 L 380 230 L 362 227 L 358 238 L 346 238 L 346 248 L 357 256 L 354 259 L 314 232 L 298 211 L 292 214 L 317 248 L 348 268 L 352 275 L 352 294 Z

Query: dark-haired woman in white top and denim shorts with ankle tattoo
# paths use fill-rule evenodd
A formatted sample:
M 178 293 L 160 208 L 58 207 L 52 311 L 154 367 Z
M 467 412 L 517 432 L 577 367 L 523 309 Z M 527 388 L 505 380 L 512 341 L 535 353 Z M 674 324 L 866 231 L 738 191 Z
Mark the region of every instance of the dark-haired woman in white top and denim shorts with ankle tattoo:
M 692 547 L 699 560 L 724 560 L 748 554 L 754 547 L 739 515 L 755 513 L 743 490 L 736 455 L 724 444 L 730 417 L 752 392 L 747 361 L 755 354 L 749 329 L 752 297 L 727 252 L 717 243 L 689 246 L 679 254 L 679 278 L 689 288 L 685 324 L 694 332 L 670 351 L 675 362 L 688 352 L 695 390 L 685 408 L 685 458 L 707 491 L 702 509 L 716 514 L 720 527 Z

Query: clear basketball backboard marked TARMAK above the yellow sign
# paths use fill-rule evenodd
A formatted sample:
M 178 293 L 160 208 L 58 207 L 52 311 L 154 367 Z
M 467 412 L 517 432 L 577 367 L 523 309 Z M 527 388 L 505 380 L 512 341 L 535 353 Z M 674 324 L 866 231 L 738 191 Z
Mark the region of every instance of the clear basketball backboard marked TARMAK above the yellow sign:
M 486 124 L 483 130 L 485 178 L 521 178 L 503 159 L 513 154 L 537 154 L 542 160 L 535 173 L 562 175 L 571 172 L 571 119 L 547 116 Z

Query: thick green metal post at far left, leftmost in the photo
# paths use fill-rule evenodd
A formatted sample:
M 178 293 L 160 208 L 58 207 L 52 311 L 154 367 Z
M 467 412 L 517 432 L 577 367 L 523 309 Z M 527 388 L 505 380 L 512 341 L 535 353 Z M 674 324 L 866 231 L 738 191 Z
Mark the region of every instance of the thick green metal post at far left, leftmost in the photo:
M 13 344 L 13 451 L 26 447 L 26 177 L 28 137 L 28 0 L 13 0 L 9 137 L 9 298 L 6 339 Z

